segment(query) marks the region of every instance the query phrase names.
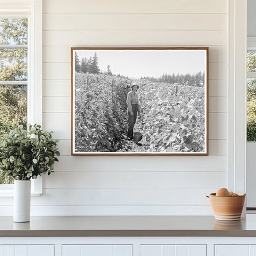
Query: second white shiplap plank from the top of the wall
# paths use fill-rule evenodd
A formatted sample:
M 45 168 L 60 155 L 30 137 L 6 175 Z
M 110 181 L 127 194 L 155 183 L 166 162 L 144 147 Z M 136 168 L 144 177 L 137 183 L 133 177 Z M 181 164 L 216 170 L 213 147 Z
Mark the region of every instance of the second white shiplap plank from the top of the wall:
M 226 14 L 44 14 L 43 30 L 226 30 Z

